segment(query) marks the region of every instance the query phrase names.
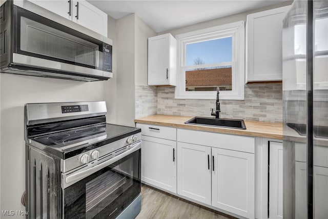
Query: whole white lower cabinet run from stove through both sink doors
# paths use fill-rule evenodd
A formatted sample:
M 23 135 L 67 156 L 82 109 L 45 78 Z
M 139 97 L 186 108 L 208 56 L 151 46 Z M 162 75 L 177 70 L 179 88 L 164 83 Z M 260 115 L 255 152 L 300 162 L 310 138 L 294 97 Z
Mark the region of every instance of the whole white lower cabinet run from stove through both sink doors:
M 141 181 L 207 207 L 255 218 L 255 138 L 137 124 Z

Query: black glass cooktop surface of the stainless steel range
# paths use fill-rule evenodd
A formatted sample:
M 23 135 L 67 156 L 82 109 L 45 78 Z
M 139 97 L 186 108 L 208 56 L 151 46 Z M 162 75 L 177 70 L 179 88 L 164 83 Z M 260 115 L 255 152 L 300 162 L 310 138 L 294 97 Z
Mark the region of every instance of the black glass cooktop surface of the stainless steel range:
M 32 137 L 31 140 L 52 147 L 56 150 L 66 151 L 72 149 L 72 147 L 83 147 L 113 138 L 116 138 L 117 140 L 117 138 L 125 137 L 122 135 L 133 134 L 131 132 L 136 130 L 137 128 L 133 127 L 100 124 Z

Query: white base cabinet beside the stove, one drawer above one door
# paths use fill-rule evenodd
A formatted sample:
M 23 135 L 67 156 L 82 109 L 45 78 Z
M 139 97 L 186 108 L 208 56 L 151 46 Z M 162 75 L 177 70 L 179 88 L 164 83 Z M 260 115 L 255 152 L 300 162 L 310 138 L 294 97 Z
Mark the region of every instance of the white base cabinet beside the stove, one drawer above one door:
M 137 124 L 141 128 L 141 181 L 176 193 L 176 129 Z

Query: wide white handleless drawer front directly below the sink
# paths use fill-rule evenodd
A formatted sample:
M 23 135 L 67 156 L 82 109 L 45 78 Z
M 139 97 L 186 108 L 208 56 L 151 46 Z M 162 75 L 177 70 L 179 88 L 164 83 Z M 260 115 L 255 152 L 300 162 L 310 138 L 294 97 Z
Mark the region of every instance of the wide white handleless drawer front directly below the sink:
M 215 148 L 255 153 L 254 137 L 178 129 L 177 141 Z

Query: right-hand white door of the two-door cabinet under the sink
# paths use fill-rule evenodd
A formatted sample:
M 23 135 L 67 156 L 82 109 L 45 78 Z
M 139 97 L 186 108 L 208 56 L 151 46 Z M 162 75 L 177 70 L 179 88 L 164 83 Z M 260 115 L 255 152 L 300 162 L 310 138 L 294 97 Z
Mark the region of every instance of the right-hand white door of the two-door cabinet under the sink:
M 212 162 L 212 206 L 254 218 L 254 154 L 212 148 Z

